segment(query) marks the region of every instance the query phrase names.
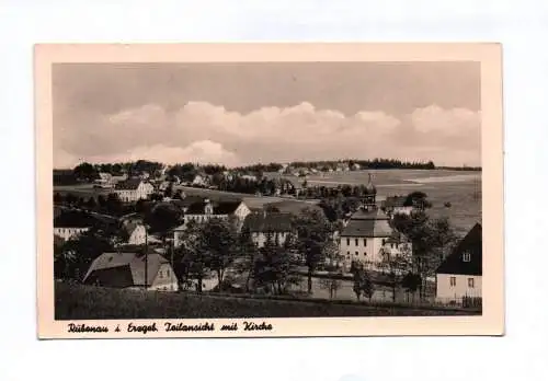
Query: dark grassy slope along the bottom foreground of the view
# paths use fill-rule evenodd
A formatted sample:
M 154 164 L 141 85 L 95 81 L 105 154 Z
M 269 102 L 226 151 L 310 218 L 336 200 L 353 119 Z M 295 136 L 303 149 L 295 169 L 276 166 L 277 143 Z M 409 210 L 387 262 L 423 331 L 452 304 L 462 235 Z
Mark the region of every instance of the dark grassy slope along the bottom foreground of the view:
M 221 319 L 469 315 L 435 308 L 372 307 L 349 302 L 297 301 L 196 293 L 162 293 L 79 285 L 55 285 L 56 320 Z

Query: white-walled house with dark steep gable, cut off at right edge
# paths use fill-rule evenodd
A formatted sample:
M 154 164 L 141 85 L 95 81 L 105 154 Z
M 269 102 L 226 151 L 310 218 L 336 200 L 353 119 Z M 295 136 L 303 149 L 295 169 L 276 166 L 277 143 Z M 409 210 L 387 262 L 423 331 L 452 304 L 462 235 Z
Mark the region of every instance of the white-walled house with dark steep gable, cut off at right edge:
M 481 224 L 477 223 L 436 270 L 436 298 L 461 301 L 481 297 Z

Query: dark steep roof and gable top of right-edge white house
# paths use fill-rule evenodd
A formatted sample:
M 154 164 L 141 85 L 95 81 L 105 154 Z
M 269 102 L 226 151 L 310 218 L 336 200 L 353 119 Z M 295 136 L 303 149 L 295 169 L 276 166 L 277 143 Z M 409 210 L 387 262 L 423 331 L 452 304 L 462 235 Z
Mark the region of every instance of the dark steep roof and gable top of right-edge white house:
M 458 243 L 439 265 L 437 274 L 481 275 L 482 261 L 481 224 L 476 226 Z M 470 262 L 463 261 L 463 254 L 470 253 Z

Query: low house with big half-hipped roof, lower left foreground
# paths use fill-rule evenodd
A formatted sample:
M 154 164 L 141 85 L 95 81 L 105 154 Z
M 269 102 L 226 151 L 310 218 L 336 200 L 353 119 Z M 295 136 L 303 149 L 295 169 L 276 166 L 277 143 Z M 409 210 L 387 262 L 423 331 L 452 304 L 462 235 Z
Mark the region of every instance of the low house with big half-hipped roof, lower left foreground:
M 83 282 L 113 288 L 179 289 L 169 261 L 151 251 L 148 255 L 141 252 L 103 253 L 91 263 Z

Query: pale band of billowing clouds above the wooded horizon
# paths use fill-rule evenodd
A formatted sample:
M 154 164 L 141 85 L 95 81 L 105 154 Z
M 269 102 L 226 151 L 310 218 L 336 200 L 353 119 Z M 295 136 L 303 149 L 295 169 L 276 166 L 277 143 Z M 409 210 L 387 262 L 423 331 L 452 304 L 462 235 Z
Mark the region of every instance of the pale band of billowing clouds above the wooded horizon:
M 250 113 L 207 102 L 176 109 L 148 104 L 107 115 L 57 115 L 54 161 L 56 166 L 79 159 L 227 165 L 375 157 L 447 162 L 453 154 L 471 163 L 479 157 L 479 122 L 478 113 L 436 105 L 398 117 L 383 111 L 345 115 L 308 102 Z M 476 136 L 478 141 L 470 141 Z

